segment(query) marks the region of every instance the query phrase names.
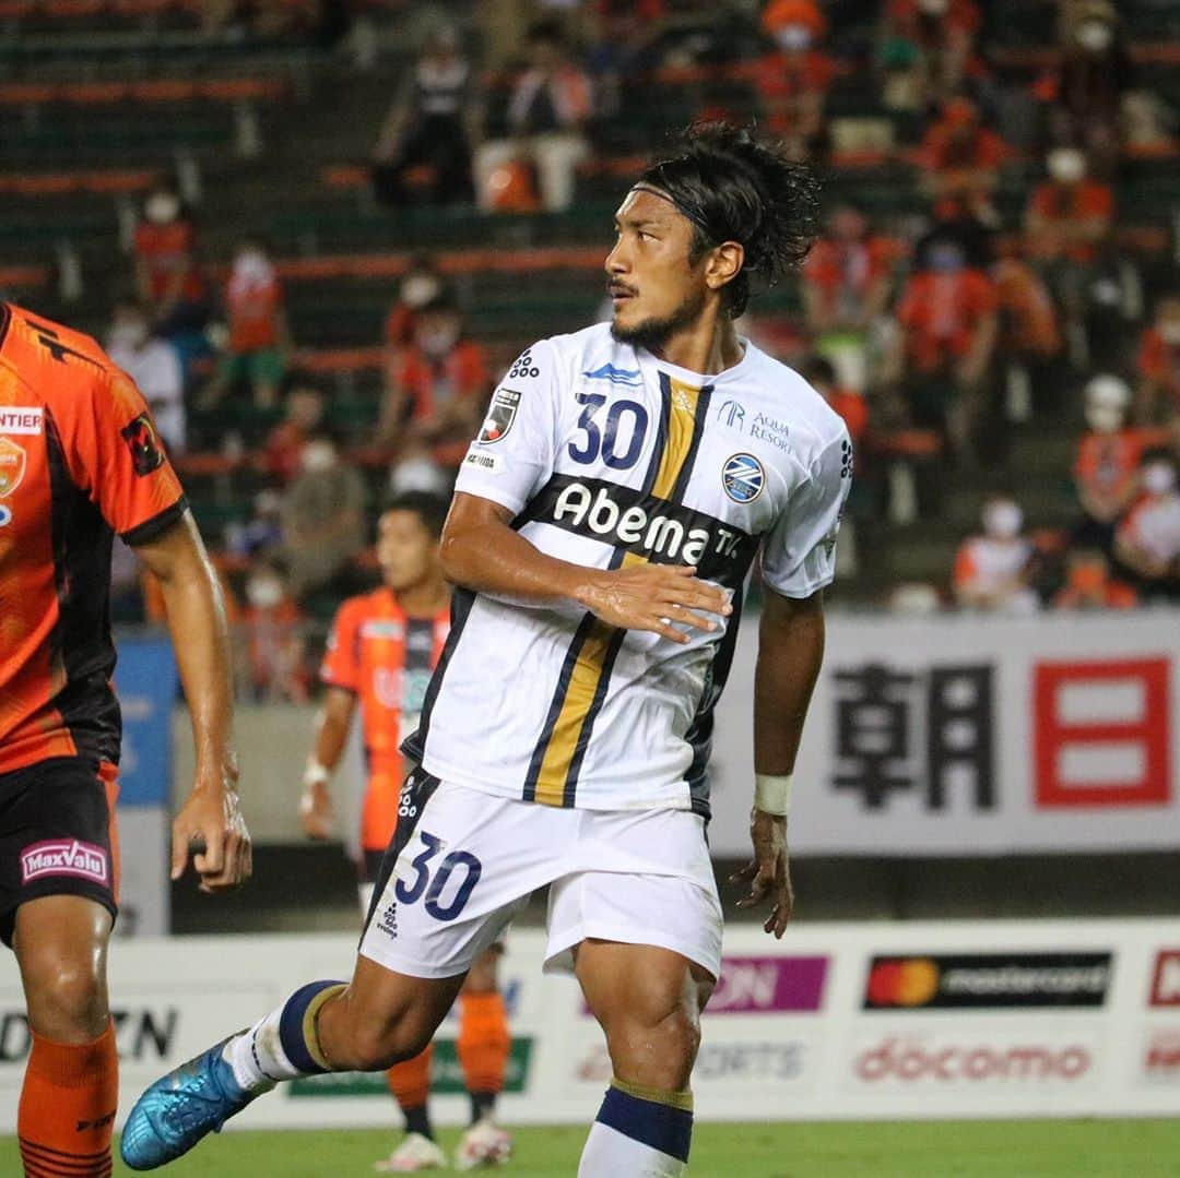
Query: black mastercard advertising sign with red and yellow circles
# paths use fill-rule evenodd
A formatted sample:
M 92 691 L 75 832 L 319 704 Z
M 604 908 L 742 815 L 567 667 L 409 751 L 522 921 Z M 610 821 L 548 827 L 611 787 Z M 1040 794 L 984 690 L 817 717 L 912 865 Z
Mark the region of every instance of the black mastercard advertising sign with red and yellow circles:
M 876 956 L 866 1011 L 1094 1007 L 1106 1002 L 1109 953 Z

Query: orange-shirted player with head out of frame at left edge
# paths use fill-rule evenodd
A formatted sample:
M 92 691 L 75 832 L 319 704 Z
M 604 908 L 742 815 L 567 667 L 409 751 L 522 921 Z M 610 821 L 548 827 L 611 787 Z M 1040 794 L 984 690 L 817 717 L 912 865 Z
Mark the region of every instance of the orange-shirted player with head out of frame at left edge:
M 196 779 L 172 827 L 201 887 L 250 874 L 217 583 L 146 402 L 97 343 L 0 304 L 0 939 L 32 1049 L 25 1173 L 106 1178 L 118 1057 L 106 949 L 118 910 L 122 723 L 111 686 L 111 545 L 159 580 L 192 716 Z

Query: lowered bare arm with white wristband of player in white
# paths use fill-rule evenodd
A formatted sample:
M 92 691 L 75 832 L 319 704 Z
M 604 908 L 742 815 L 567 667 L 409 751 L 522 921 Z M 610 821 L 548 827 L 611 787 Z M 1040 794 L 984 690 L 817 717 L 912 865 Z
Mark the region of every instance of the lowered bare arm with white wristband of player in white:
M 754 670 L 756 785 L 749 820 L 754 858 L 734 878 L 750 884 L 739 908 L 772 900 L 774 907 L 762 927 L 776 937 L 786 932 L 794 906 L 787 860 L 791 775 L 822 662 L 822 592 L 795 600 L 767 590 Z

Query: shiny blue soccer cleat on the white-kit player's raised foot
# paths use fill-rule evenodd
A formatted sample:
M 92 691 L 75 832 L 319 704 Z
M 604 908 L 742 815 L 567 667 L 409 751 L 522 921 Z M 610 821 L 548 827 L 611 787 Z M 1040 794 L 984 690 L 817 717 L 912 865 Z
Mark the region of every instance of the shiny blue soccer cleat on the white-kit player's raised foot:
M 222 1058 L 222 1040 L 162 1075 L 136 1101 L 123 1126 L 120 1152 L 132 1170 L 155 1170 L 216 1133 L 235 1113 L 274 1085 L 247 1092 Z

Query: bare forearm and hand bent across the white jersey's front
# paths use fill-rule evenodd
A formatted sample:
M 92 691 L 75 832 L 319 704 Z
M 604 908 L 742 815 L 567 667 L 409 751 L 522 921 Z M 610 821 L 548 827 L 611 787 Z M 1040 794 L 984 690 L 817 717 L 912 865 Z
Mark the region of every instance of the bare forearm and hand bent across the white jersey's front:
M 612 626 L 648 630 L 687 643 L 673 623 L 716 630 L 707 614 L 732 612 L 725 590 L 695 567 L 642 564 L 588 568 L 550 557 L 511 526 L 513 513 L 490 499 L 458 493 L 442 529 L 442 568 L 457 585 L 518 601 L 575 601 Z

